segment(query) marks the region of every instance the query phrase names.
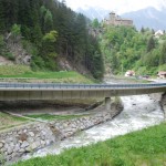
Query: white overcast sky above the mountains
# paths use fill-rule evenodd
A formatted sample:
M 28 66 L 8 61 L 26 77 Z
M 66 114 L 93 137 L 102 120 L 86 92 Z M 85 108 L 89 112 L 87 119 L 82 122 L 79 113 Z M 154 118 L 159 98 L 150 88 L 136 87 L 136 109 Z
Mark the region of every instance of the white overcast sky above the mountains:
M 66 6 L 76 10 L 77 8 L 103 8 L 106 10 L 115 11 L 118 14 L 135 11 L 146 7 L 155 7 L 160 9 L 166 7 L 166 0 L 65 0 Z

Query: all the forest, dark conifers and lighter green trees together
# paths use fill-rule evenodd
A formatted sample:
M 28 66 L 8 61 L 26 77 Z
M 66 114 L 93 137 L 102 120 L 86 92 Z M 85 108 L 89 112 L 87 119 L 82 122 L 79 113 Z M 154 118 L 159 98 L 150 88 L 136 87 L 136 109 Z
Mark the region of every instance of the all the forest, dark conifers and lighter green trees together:
M 0 0 L 0 55 L 14 61 L 6 46 L 10 33 L 32 54 L 34 71 L 60 71 L 60 59 L 75 70 L 83 66 L 95 79 L 102 79 L 107 69 L 123 75 L 127 70 L 136 75 L 166 70 L 166 33 L 155 38 L 153 29 L 91 21 L 64 0 Z

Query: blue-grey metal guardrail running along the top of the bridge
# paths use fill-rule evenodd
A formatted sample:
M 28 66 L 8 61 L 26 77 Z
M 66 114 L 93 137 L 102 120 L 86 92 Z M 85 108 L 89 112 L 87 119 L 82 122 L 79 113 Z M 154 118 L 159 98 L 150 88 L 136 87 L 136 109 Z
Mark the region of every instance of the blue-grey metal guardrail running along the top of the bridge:
M 149 84 L 55 84 L 55 83 L 0 83 L 2 89 L 55 89 L 55 90 L 79 90 L 79 89 L 148 89 L 148 87 L 166 87 L 166 83 L 149 83 Z

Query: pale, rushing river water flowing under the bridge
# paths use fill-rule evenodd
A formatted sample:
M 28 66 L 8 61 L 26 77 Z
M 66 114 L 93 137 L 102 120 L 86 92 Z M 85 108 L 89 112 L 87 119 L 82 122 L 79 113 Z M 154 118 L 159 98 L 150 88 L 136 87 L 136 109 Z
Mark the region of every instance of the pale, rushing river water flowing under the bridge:
M 151 98 L 148 95 L 124 96 L 122 101 L 124 103 L 124 110 L 113 121 L 100 124 L 73 137 L 39 149 L 31 156 L 24 156 L 24 159 L 45 156 L 48 154 L 60 154 L 65 148 L 105 141 L 117 135 L 159 124 L 164 121 L 164 113 L 158 101 Z

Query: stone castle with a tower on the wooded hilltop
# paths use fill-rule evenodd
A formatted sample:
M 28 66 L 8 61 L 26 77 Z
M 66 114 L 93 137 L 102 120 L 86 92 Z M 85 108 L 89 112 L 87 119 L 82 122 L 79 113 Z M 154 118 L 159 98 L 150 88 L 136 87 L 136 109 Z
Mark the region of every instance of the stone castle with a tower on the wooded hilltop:
M 104 23 L 111 25 L 133 25 L 133 20 L 122 19 L 121 17 L 116 15 L 115 12 L 111 12 L 108 20 L 105 19 Z

